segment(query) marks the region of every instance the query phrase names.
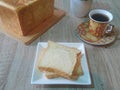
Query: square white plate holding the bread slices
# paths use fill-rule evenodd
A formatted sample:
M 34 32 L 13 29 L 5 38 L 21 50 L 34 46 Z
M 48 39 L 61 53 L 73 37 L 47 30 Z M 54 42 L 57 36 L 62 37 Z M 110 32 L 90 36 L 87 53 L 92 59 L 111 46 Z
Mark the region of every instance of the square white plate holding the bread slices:
M 84 75 L 80 76 L 77 80 L 72 81 L 72 80 L 67 80 L 64 78 L 54 78 L 54 79 L 47 79 L 44 75 L 44 73 L 40 72 L 36 66 L 37 63 L 37 58 L 39 53 L 41 52 L 42 48 L 47 47 L 47 43 L 45 42 L 39 42 L 37 46 L 37 51 L 36 51 L 36 56 L 35 56 L 35 62 L 33 66 L 33 72 L 32 72 L 32 78 L 31 78 L 31 84 L 46 84 L 46 85 L 91 85 L 91 77 L 90 77 L 90 72 L 88 68 L 88 62 L 86 58 L 86 53 L 85 53 L 85 47 L 83 43 L 60 43 L 65 46 L 69 47 L 75 47 L 78 48 L 82 52 L 82 68 Z

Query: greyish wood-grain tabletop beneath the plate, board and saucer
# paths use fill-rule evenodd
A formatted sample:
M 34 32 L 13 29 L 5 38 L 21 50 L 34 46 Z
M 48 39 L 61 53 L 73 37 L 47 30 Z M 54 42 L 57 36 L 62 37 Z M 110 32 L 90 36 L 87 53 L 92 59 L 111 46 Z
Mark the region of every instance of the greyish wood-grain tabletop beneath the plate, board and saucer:
M 69 14 L 70 0 L 56 0 L 55 6 L 65 10 L 67 15 L 31 45 L 26 46 L 0 33 L 0 90 L 120 90 L 120 35 L 109 47 L 85 44 L 90 62 L 94 88 L 45 88 L 45 85 L 31 85 L 31 74 L 38 42 L 80 42 L 73 31 L 86 18 L 76 18 Z M 120 31 L 119 0 L 93 0 L 92 8 L 102 8 L 114 15 L 112 24 Z

